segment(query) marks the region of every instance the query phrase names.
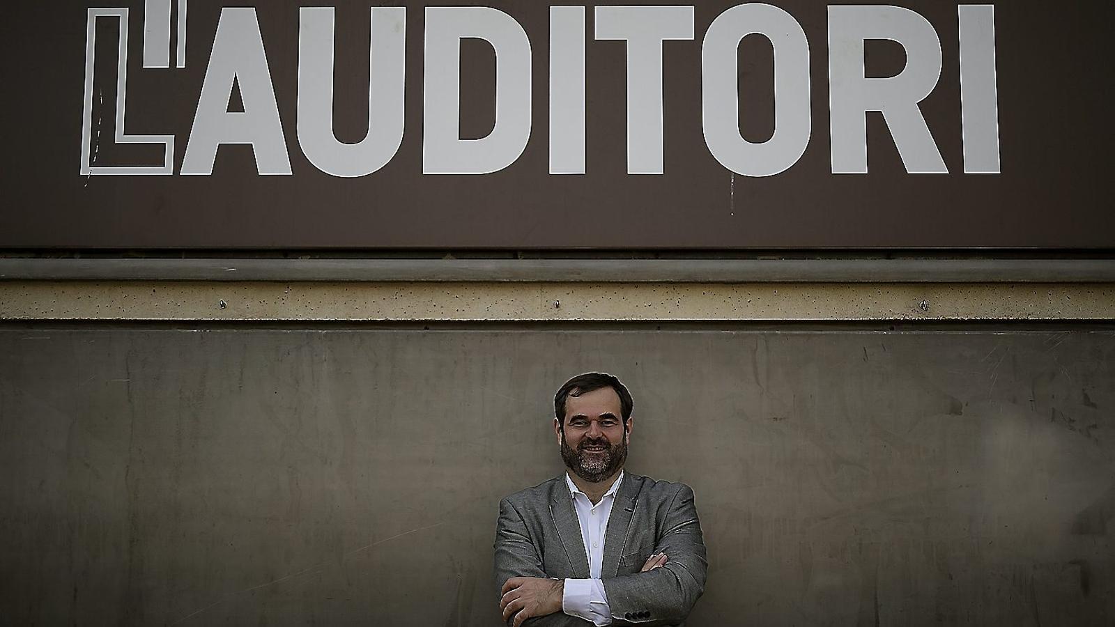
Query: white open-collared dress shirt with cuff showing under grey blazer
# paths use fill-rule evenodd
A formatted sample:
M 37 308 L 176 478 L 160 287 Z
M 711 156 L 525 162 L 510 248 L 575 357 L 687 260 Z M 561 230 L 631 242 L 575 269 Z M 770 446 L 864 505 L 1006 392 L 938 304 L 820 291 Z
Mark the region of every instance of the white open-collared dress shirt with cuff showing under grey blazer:
M 615 491 L 623 480 L 623 471 L 615 478 L 611 488 L 595 505 L 589 495 L 581 492 L 569 473 L 565 483 L 569 485 L 576 510 L 576 520 L 581 523 L 581 540 L 589 558 L 589 576 L 591 579 L 566 579 L 565 591 L 562 595 L 562 611 L 591 620 L 597 626 L 612 623 L 612 610 L 608 607 L 608 596 L 604 594 L 604 582 L 600 578 L 601 563 L 604 560 L 604 534 L 608 532 L 608 519 L 612 515 L 612 504 L 615 502 Z

